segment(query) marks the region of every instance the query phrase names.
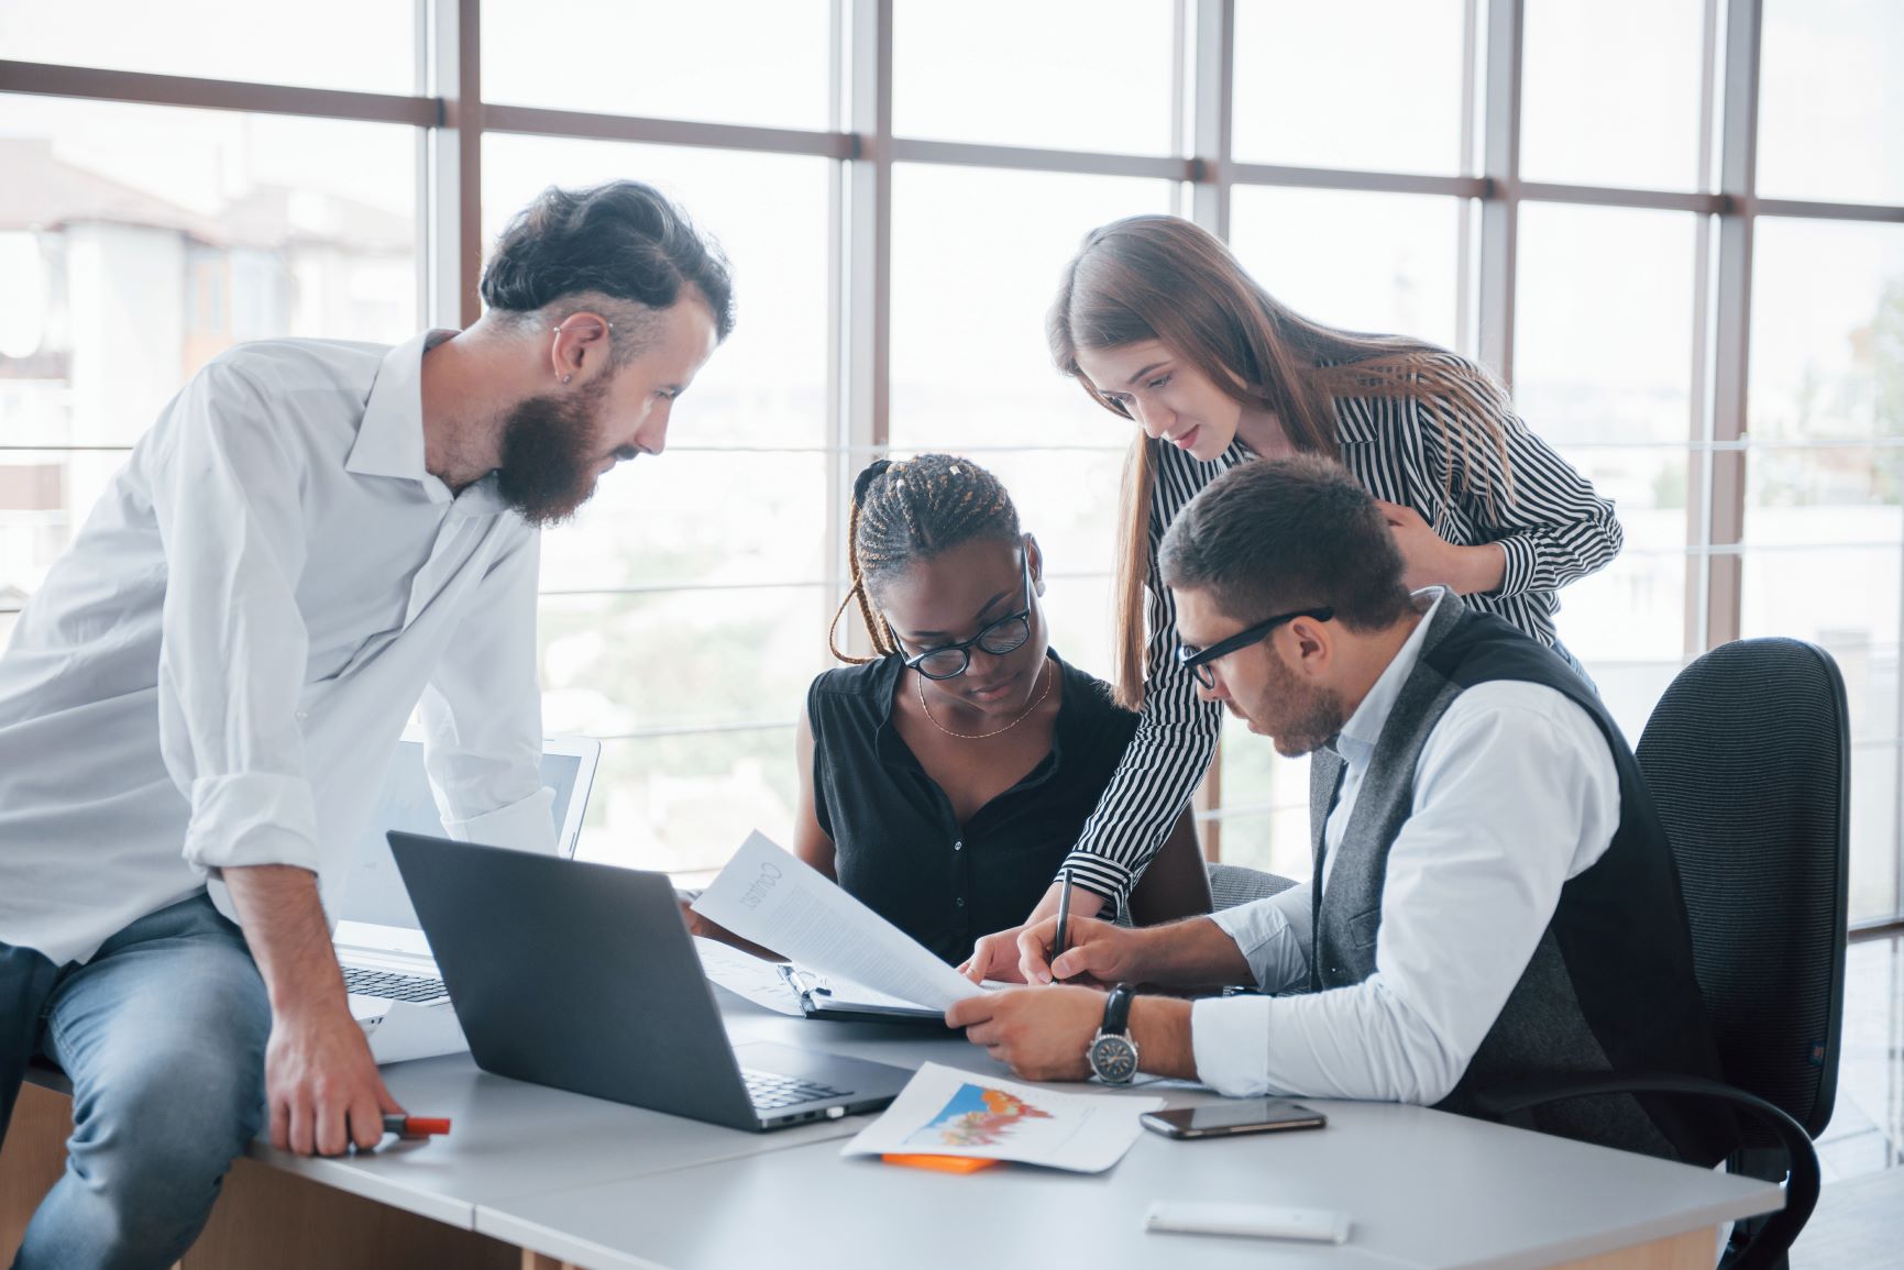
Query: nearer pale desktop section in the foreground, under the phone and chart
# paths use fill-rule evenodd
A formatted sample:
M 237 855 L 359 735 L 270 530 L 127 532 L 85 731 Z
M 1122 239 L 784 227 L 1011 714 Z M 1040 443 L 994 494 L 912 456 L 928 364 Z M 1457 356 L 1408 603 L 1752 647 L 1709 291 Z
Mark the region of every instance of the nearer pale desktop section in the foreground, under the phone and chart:
M 1139 1139 L 1110 1173 L 954 1177 L 821 1142 L 482 1205 L 482 1234 L 602 1270 L 1327 1266 L 1514 1270 L 1584 1260 L 1776 1207 L 1765 1182 L 1418 1106 L 1318 1102 L 1321 1133 Z M 1152 1200 L 1344 1209 L 1350 1243 L 1144 1234 Z M 1670 1262 L 1668 1262 L 1670 1264 Z

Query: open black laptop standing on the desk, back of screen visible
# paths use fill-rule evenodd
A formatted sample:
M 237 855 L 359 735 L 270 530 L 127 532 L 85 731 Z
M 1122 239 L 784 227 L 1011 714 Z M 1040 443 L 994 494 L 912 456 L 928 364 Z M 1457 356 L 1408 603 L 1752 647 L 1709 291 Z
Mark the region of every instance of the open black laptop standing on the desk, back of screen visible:
M 733 1129 L 880 1110 L 883 1062 L 735 1045 L 666 874 L 390 834 L 486 1072 Z

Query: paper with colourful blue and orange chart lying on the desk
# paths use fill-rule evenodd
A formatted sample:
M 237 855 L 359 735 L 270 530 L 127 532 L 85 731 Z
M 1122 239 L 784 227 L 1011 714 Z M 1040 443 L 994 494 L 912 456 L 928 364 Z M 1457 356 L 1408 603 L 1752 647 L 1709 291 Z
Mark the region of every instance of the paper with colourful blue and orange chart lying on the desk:
M 1163 1099 L 1062 1093 L 927 1062 L 842 1156 L 975 1156 L 1102 1173 Z

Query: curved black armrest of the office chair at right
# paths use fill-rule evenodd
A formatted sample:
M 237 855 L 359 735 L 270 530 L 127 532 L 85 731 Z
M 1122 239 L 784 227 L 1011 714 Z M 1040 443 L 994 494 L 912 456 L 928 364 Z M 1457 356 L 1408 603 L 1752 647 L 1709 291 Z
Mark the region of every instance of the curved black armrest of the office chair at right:
M 1786 1154 L 1786 1205 L 1765 1222 L 1746 1243 L 1729 1257 L 1725 1270 L 1765 1270 L 1797 1240 L 1799 1230 L 1811 1220 L 1811 1211 L 1818 1205 L 1818 1152 L 1811 1144 L 1811 1135 L 1782 1106 L 1735 1089 L 1733 1085 L 1698 1076 L 1670 1076 L 1651 1072 L 1618 1072 L 1611 1076 L 1544 1076 L 1525 1081 L 1495 1085 L 1474 1095 L 1474 1104 L 1481 1112 L 1500 1118 L 1523 1118 L 1537 1106 L 1565 1099 L 1584 1099 L 1609 1093 L 1658 1093 L 1719 1099 L 1735 1110 L 1750 1114 L 1778 1137 Z

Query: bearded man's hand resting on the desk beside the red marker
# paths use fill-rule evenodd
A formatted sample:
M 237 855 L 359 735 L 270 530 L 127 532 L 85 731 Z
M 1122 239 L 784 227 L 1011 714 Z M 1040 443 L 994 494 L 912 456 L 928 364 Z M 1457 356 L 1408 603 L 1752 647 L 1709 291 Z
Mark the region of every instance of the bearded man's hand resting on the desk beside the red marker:
M 348 1009 L 278 1013 L 265 1049 L 270 1144 L 299 1156 L 341 1156 L 383 1141 L 385 1112 L 404 1108 L 383 1085 L 364 1028 Z

